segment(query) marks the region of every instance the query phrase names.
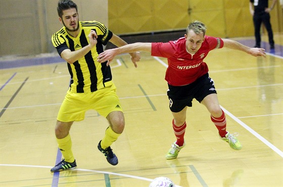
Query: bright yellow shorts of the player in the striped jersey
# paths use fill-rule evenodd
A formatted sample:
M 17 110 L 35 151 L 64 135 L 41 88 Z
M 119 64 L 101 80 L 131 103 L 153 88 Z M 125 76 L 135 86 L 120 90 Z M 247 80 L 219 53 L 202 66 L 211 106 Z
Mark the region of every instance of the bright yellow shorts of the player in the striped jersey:
M 123 111 L 116 94 L 116 86 L 102 88 L 90 93 L 73 93 L 68 91 L 60 107 L 57 119 L 63 122 L 81 121 L 85 111 L 93 109 L 106 117 L 112 111 Z

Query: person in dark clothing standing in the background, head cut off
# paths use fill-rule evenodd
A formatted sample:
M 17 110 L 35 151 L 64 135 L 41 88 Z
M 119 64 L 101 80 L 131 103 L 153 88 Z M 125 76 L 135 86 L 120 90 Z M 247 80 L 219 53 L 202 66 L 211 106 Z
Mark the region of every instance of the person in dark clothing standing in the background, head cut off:
M 269 12 L 274 8 L 276 1 L 277 0 L 272 0 L 272 5 L 268 8 L 268 0 L 250 0 L 250 12 L 253 16 L 256 38 L 256 45 L 254 47 L 260 48 L 260 26 L 261 23 L 263 23 L 268 32 L 270 49 L 274 49 L 273 31 L 270 24 Z

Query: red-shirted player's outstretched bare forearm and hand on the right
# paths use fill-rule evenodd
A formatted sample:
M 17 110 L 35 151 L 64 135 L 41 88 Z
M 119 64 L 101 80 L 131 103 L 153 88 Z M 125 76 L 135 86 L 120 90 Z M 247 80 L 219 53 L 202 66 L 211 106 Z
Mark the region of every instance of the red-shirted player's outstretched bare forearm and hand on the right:
M 251 48 L 246 45 L 239 43 L 238 41 L 230 40 L 230 39 L 222 39 L 224 42 L 223 47 L 227 47 L 230 49 L 236 49 L 253 56 L 265 56 L 265 49 L 263 48 Z

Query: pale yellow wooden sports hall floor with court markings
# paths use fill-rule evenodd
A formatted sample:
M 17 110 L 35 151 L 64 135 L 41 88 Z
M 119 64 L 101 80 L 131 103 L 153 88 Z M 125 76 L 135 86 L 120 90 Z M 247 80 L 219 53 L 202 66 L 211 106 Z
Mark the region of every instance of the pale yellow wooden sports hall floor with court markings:
M 158 176 L 176 186 L 282 186 L 283 35 L 275 35 L 272 53 L 263 40 L 266 58 L 219 49 L 205 59 L 227 130 L 238 136 L 241 151 L 218 138 L 208 111 L 194 101 L 187 110 L 186 146 L 177 159 L 166 160 L 175 141 L 166 59 L 141 53 L 135 69 L 123 54 L 111 65 L 126 119 L 112 146 L 119 164 L 108 164 L 97 149 L 106 119 L 88 111 L 70 132 L 78 167 L 60 173 L 50 168 L 61 161 L 54 127 L 69 85 L 66 63 L 1 69 L 0 186 L 148 186 Z

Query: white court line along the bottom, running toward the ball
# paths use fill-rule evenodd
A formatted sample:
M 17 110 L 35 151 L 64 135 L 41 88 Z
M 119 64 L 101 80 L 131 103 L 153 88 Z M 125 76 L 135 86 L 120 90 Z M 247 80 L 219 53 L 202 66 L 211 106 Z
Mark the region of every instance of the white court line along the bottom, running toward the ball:
M 39 166 L 39 165 L 19 165 L 19 164 L 0 164 L 0 166 L 15 166 L 15 167 L 39 167 L 39 168 L 52 168 L 51 166 Z M 124 176 L 129 178 L 135 178 L 140 180 L 147 180 L 152 182 L 153 179 L 151 178 L 145 178 L 141 176 L 134 176 L 134 175 L 128 175 L 128 174 L 122 174 L 122 173 L 114 173 L 114 172 L 108 172 L 108 171 L 99 171 L 99 170 L 90 170 L 90 169 L 72 169 L 72 170 L 78 170 L 78 171 L 86 171 L 86 172 L 94 172 L 94 173 L 103 173 L 103 174 L 112 174 L 117 176 Z M 176 187 L 182 187 L 179 185 L 175 185 Z

